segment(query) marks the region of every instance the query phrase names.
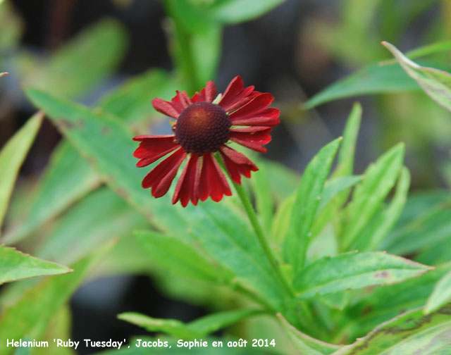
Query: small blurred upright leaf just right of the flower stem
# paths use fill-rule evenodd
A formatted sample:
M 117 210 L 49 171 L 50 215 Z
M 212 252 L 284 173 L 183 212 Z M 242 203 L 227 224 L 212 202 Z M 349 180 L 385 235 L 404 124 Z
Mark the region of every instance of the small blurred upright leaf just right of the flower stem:
M 257 213 L 261 218 L 263 229 L 271 230 L 273 222 L 273 199 L 269 186 L 268 174 L 263 163 L 259 164 L 259 171 L 252 174 L 252 187 L 255 196 Z

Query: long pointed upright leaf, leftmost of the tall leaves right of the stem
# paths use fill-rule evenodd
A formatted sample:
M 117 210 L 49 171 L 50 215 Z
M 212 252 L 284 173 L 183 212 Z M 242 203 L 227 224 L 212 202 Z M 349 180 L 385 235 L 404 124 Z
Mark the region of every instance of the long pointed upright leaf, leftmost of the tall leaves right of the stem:
M 295 272 L 304 266 L 305 254 L 310 242 L 310 229 L 318 210 L 324 183 L 329 175 L 333 158 L 342 139 L 335 139 L 323 147 L 310 161 L 302 175 L 292 206 L 290 228 L 283 246 L 285 260 Z

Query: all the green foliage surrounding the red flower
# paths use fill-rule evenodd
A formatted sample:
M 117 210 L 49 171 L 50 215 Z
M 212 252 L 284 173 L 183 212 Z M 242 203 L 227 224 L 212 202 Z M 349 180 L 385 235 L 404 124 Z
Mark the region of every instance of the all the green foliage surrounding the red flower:
M 255 221 L 247 220 L 236 194 L 221 203 L 205 201 L 183 208 L 173 206 L 168 195 L 153 199 L 141 187 L 145 172 L 135 168 L 132 136 L 152 130 L 161 119 L 149 99 L 170 99 L 175 89 L 193 92 L 214 79 L 223 28 L 258 18 L 282 2 L 183 0 L 175 6 L 174 1 L 164 1 L 171 18 L 173 72 L 153 68 L 110 90 L 92 107 L 74 100 L 121 60 L 127 39 L 120 25 L 102 21 L 44 62 L 18 54 L 18 73 L 29 85 L 25 95 L 39 112 L 0 152 L 0 222 L 44 113 L 63 140 L 27 197 L 26 211 L 8 220 L 3 242 L 20 242 L 27 252 L 49 261 L 0 246 L 0 283 L 46 276 L 2 289 L 0 339 L 51 339 L 55 324 L 69 322 L 68 300 L 92 273 L 145 273 L 161 278 L 160 287 L 168 293 L 174 285 L 178 289 L 186 285 L 178 297 L 214 309 L 188 323 L 135 312 L 118 315 L 149 332 L 168 335 L 171 341 L 216 339 L 215 333 L 224 328 L 221 340 L 238 339 L 243 335 L 236 323 L 250 329 L 253 318 L 259 322 L 269 318 L 271 332 L 291 340 L 267 349 L 275 353 L 296 349 L 299 354 L 409 354 L 421 348 L 422 354 L 447 354 L 451 260 L 443 245 L 449 244 L 451 235 L 449 191 L 408 195 L 411 174 L 404 155 L 409 146 L 403 143 L 357 174 L 359 104 L 352 107 L 342 137 L 319 149 L 302 177 L 256 157 L 260 170 L 243 192 L 254 201 L 257 223 L 263 226 L 276 265 L 268 259 L 261 236 L 253 229 Z M 371 8 L 386 6 L 382 0 L 371 1 L 369 8 L 361 2 L 345 1 L 342 16 L 350 20 L 335 33 L 336 44 L 325 45 L 333 45 L 342 60 L 355 51 L 368 63 L 383 47 L 365 54 L 359 49 L 364 37 L 347 43 L 346 50 L 339 46 L 344 35 L 366 29 Z M 413 2 L 410 18 L 428 7 Z M 8 11 L 0 4 L 0 18 Z M 20 25 L 12 22 L 0 46 L 18 41 Z M 392 44 L 384 45 L 396 61 L 369 64 L 303 107 L 355 94 L 423 89 L 451 110 L 450 74 L 412 61 L 440 54 L 450 48 L 449 42 L 412 51 L 410 58 Z M 67 275 L 56 275 L 63 273 Z M 211 291 L 218 289 L 221 292 Z M 1 354 L 12 354 L 5 345 L 1 342 Z M 227 350 L 227 354 L 254 352 Z M 148 352 L 121 349 L 105 354 Z

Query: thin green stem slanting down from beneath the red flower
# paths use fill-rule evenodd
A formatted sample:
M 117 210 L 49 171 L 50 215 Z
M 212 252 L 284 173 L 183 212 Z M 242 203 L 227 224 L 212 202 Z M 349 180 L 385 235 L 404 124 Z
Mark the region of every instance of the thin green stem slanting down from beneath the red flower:
M 276 272 L 276 275 L 278 275 L 278 278 L 280 278 L 280 281 L 283 283 L 285 289 L 287 289 L 290 296 L 295 297 L 295 292 L 293 292 L 292 287 L 290 287 L 290 285 L 288 285 L 288 282 L 285 279 L 285 276 L 280 271 L 276 256 L 274 256 L 273 251 L 271 250 L 271 247 L 268 244 L 268 240 L 266 239 L 264 231 L 261 228 L 259 219 L 257 218 L 257 214 L 254 211 L 254 207 L 252 207 L 251 201 L 249 200 L 249 197 L 247 196 L 245 188 L 242 187 L 242 185 L 238 185 L 235 182 L 233 182 L 233 185 L 235 186 L 235 190 L 236 190 L 238 196 L 240 197 L 243 207 L 245 208 L 247 217 L 249 218 L 252 228 L 254 228 L 255 235 L 257 235 L 257 239 L 259 239 L 261 248 L 263 249 L 263 251 L 266 255 L 266 258 L 268 259 L 269 263 L 273 267 L 273 270 Z

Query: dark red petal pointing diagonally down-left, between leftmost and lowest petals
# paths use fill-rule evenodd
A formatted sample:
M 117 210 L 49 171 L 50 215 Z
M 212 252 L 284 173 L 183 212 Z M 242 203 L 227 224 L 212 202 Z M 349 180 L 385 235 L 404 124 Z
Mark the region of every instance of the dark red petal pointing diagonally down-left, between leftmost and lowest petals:
M 175 153 L 168 156 L 168 158 L 161 161 L 161 163 L 151 170 L 144 180 L 142 180 L 142 187 L 144 187 L 144 189 L 152 187 L 152 196 L 156 198 L 166 194 L 186 155 L 185 150 L 180 148 L 175 151 Z

